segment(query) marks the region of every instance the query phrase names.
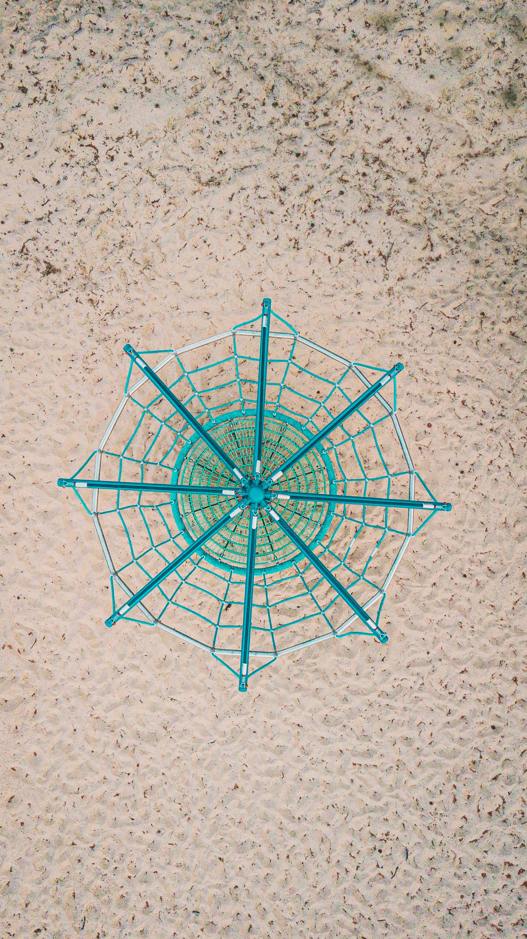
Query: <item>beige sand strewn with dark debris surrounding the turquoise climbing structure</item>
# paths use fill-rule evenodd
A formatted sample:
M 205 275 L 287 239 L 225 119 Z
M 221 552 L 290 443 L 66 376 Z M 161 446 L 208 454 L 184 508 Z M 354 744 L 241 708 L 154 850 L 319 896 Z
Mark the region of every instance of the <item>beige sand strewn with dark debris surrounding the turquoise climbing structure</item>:
M 0 936 L 527 935 L 524 5 L 9 2 Z M 311 225 L 311 223 L 314 223 Z M 238 694 L 108 615 L 57 489 L 122 393 L 273 299 L 405 364 L 450 498 L 384 605 Z M 431 427 L 429 425 L 431 424 Z

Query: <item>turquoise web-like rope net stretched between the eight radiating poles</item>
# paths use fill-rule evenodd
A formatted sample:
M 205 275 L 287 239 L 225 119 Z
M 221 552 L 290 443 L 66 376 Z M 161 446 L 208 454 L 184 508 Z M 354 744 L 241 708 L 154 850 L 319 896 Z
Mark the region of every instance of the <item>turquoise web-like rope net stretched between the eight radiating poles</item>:
M 261 318 L 143 362 L 250 477 Z M 344 359 L 273 314 L 264 404 L 262 475 L 268 477 L 386 369 Z M 396 377 L 279 480 L 285 493 L 433 500 L 414 469 L 396 414 Z M 227 494 L 75 492 L 94 516 L 111 573 L 113 610 L 188 548 L 238 498 L 233 476 L 133 362 L 124 397 L 98 450 L 77 471 L 98 481 L 213 486 Z M 231 493 L 231 494 L 229 494 Z M 435 514 L 390 505 L 273 502 L 324 565 L 379 623 L 385 592 L 410 539 Z M 431 508 L 431 506 L 430 506 Z M 238 675 L 248 556 L 248 512 L 194 551 L 125 617 L 156 623 L 207 649 Z M 261 513 L 250 639 L 254 674 L 280 654 L 330 637 L 370 635 L 279 528 Z

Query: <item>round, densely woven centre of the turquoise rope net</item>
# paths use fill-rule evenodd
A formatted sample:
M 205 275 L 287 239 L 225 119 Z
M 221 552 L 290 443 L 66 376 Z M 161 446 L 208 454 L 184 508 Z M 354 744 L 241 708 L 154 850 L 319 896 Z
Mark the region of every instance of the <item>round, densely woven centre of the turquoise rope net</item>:
M 205 424 L 205 429 L 215 439 L 233 463 L 250 478 L 254 449 L 254 412 L 234 411 L 218 420 Z M 262 452 L 262 477 L 268 478 L 275 469 L 295 454 L 312 437 L 301 423 L 283 414 L 264 417 L 264 446 Z M 237 485 L 229 469 L 218 460 L 203 441 L 195 434 L 179 454 L 173 468 L 173 484 L 218 486 L 233 489 Z M 273 486 L 282 492 L 335 493 L 335 472 L 324 448 L 319 444 L 305 454 Z M 249 488 L 248 498 L 259 504 L 263 498 L 261 486 Z M 188 544 L 195 541 L 237 504 L 234 496 L 177 495 L 173 497 L 173 516 L 179 531 L 183 531 Z M 279 515 L 296 531 L 308 545 L 321 539 L 327 531 L 334 513 L 334 506 L 321 502 L 301 500 L 272 501 Z M 249 512 L 233 518 L 221 531 L 213 535 L 203 546 L 207 561 L 223 570 L 245 572 L 248 548 Z M 256 542 L 256 571 L 269 573 L 290 567 L 299 557 L 298 548 L 268 515 L 259 514 Z

